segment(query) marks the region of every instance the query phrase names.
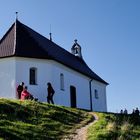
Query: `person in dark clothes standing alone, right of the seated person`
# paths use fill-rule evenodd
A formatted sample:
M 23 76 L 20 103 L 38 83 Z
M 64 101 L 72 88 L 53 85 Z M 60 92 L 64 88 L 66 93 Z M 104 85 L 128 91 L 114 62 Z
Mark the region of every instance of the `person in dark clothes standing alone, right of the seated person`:
M 50 104 L 50 102 L 52 104 L 54 104 L 53 95 L 54 95 L 55 91 L 54 91 L 54 89 L 53 89 L 53 87 L 52 87 L 50 82 L 48 82 L 47 85 L 48 85 L 48 88 L 47 88 L 47 91 L 48 91 L 47 102 L 49 104 Z

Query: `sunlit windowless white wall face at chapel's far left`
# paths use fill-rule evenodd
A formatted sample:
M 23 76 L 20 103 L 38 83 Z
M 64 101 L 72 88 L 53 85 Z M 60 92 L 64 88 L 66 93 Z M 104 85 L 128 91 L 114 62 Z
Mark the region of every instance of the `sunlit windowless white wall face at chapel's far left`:
M 15 98 L 15 60 L 0 59 L 0 98 Z

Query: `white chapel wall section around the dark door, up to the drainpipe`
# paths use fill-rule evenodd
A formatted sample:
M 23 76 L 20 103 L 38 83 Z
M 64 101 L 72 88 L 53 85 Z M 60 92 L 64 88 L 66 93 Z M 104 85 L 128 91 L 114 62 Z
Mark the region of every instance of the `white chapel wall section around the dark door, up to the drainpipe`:
M 70 106 L 70 86 L 76 88 L 77 107 L 90 109 L 89 80 L 86 76 L 53 61 L 53 79 L 57 88 L 58 104 Z M 60 89 L 60 73 L 64 74 L 64 91 Z M 58 80 L 55 80 L 58 79 Z

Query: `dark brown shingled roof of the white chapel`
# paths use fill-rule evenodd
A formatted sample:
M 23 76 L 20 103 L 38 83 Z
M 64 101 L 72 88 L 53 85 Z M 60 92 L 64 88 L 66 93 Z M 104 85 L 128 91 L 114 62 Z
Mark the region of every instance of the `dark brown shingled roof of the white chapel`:
M 55 60 L 91 79 L 108 84 L 82 58 L 74 56 L 18 20 L 0 40 L 0 58 L 11 56 Z

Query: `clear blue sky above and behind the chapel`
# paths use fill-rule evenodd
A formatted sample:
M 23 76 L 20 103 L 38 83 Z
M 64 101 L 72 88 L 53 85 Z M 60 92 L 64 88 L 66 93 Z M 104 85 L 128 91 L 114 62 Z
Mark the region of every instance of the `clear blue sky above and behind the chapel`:
M 140 0 L 0 0 L 0 38 L 15 21 L 70 51 L 109 83 L 109 112 L 140 109 Z

